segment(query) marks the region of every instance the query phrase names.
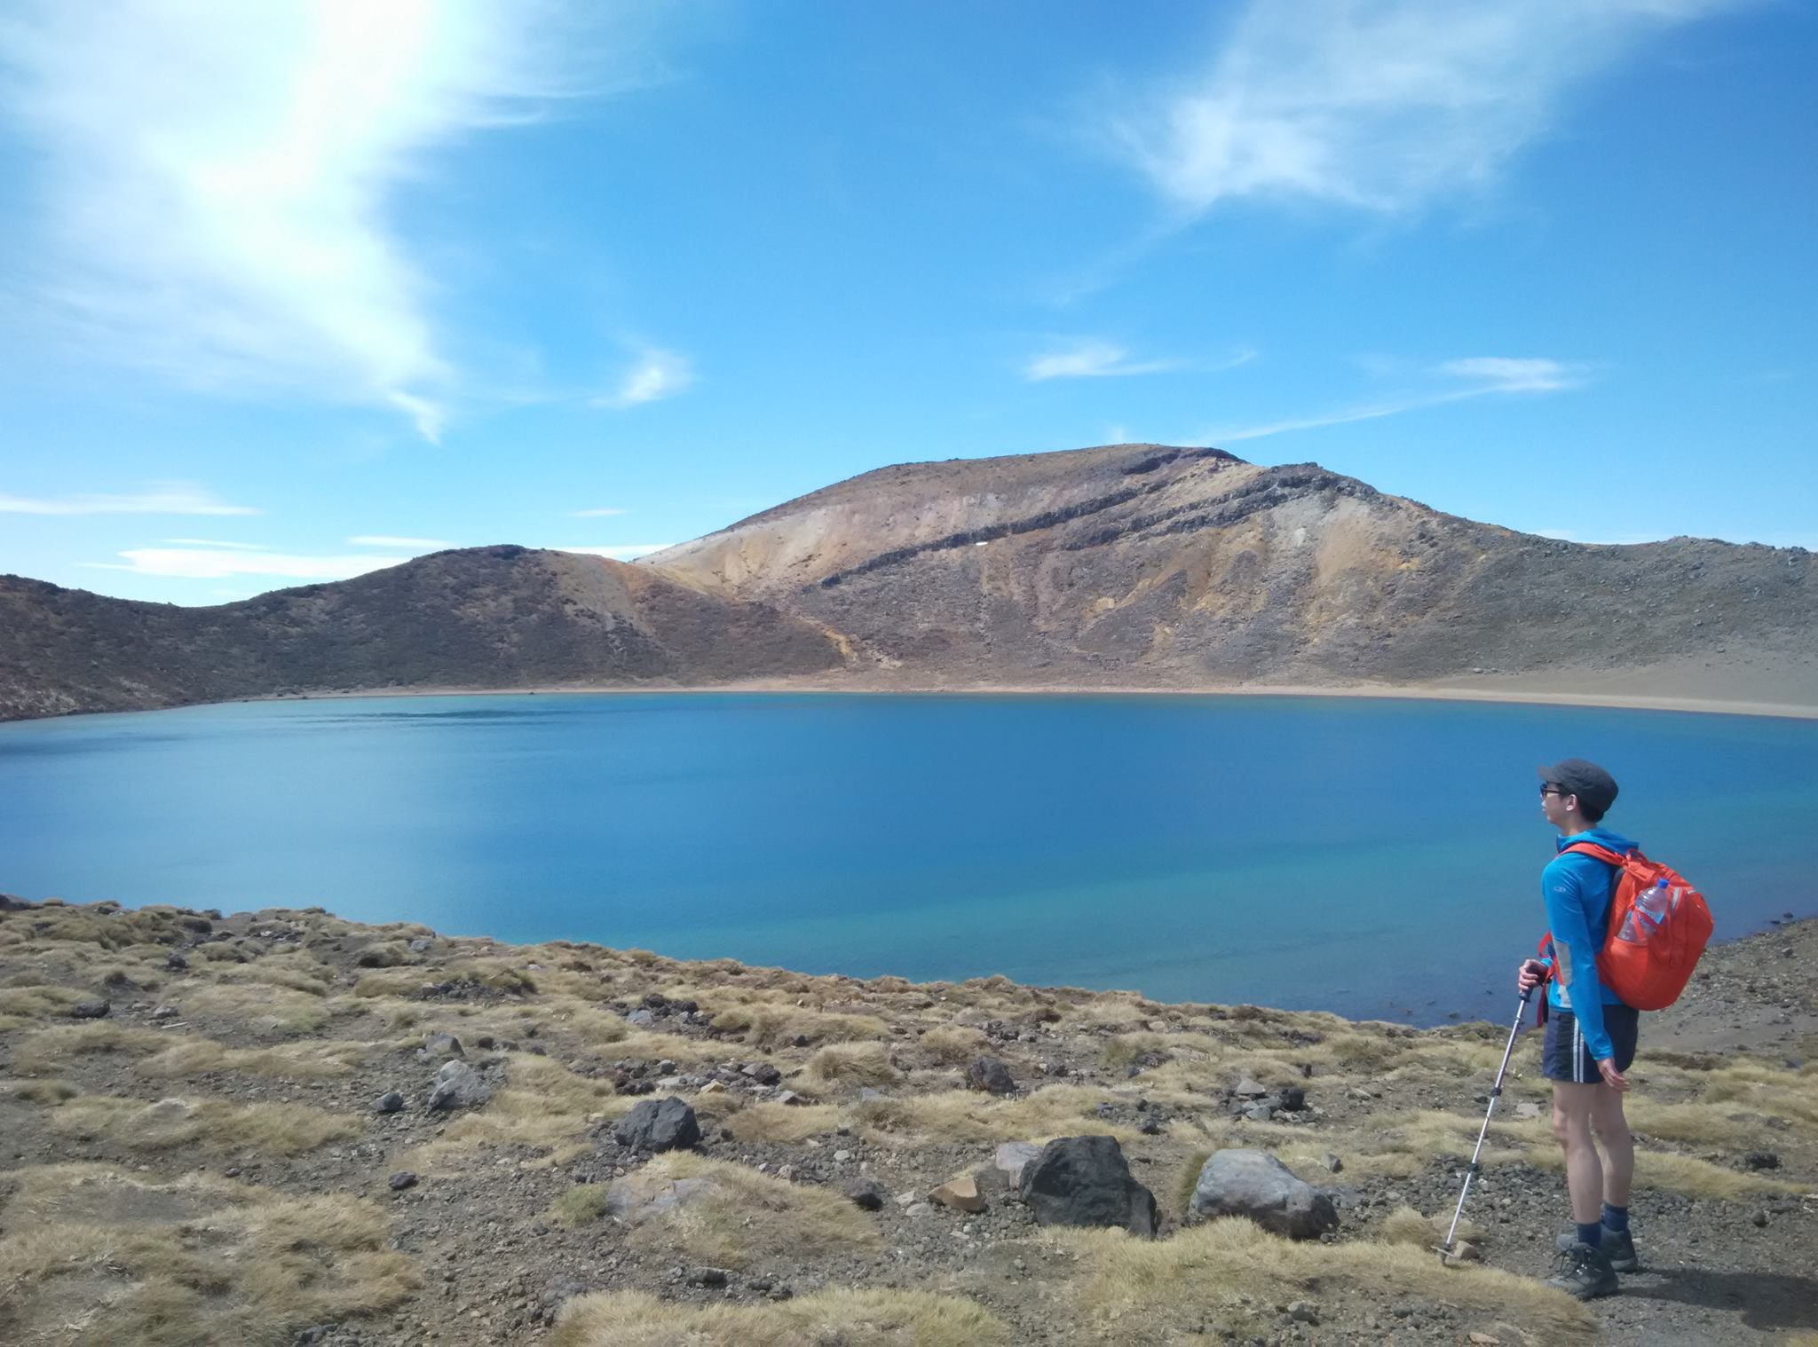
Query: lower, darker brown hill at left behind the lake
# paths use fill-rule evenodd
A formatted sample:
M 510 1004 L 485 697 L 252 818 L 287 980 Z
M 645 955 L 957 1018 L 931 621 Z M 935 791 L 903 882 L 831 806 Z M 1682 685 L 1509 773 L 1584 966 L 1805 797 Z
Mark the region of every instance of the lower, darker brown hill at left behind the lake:
M 473 547 L 220 607 L 0 576 L 0 718 L 284 691 L 713 683 L 838 644 L 765 605 L 573 553 Z

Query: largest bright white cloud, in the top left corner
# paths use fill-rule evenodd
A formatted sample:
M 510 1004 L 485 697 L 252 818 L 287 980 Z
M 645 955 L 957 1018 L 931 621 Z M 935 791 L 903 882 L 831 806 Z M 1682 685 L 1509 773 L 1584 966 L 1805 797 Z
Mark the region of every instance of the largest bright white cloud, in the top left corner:
M 84 353 L 395 407 L 435 440 L 453 371 L 389 211 L 433 149 L 578 93 L 556 7 L 25 0 L 0 111 L 40 151 L 42 236 L 9 280 Z

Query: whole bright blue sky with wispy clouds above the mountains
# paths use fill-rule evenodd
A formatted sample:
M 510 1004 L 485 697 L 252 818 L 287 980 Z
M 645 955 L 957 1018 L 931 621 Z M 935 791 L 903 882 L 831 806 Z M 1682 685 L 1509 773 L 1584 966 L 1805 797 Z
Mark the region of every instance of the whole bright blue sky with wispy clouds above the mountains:
M 25 0 L 0 571 L 634 556 L 1118 440 L 1818 547 L 1814 62 L 1793 0 Z

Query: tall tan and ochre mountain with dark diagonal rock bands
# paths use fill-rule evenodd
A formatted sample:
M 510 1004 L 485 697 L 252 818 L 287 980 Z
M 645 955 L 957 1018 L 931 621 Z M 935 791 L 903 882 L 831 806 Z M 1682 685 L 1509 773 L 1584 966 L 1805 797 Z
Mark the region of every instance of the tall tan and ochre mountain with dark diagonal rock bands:
M 1413 683 L 1773 662 L 1818 702 L 1802 549 L 1554 542 L 1313 464 L 1111 445 L 887 467 L 645 564 L 854 638 L 893 680 Z M 1687 673 L 1689 671 L 1689 673 Z

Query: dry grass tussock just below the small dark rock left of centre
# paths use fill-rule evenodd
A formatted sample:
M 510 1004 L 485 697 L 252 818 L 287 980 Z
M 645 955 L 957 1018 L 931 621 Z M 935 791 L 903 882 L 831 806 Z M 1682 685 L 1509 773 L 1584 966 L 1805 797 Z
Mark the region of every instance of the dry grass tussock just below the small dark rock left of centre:
M 747 1165 L 671 1151 L 625 1182 L 654 1194 L 684 1178 L 705 1180 L 707 1187 L 667 1212 L 645 1214 L 629 1232 L 631 1242 L 716 1267 L 874 1254 L 882 1247 L 876 1222 L 844 1196 Z

